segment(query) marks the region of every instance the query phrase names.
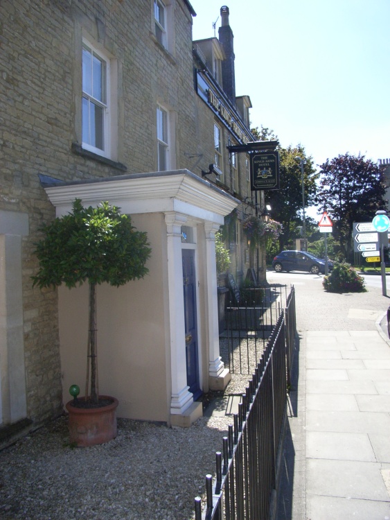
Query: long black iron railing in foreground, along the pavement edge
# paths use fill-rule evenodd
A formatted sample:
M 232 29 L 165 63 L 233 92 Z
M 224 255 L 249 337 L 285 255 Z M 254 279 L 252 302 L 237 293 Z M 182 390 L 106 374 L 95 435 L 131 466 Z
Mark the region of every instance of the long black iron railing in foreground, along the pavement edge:
M 206 476 L 206 506 L 195 499 L 195 520 L 267 519 L 276 486 L 276 460 L 286 404 L 285 314 L 281 310 L 234 424 Z

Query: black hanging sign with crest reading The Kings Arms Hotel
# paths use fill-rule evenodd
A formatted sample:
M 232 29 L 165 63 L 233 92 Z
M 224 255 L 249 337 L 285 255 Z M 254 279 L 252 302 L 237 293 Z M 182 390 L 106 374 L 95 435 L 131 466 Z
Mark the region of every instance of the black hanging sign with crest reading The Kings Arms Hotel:
M 251 155 L 251 190 L 279 189 L 279 153 Z

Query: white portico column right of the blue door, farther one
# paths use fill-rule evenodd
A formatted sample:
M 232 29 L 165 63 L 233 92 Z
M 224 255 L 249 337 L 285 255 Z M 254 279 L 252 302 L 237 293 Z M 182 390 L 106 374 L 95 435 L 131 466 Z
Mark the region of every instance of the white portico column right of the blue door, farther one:
M 215 259 L 215 233 L 220 225 L 204 223 L 206 234 L 206 297 L 209 340 L 209 385 L 211 390 L 223 390 L 231 380 L 229 370 L 224 367 L 220 356 L 220 331 L 218 327 L 217 266 Z

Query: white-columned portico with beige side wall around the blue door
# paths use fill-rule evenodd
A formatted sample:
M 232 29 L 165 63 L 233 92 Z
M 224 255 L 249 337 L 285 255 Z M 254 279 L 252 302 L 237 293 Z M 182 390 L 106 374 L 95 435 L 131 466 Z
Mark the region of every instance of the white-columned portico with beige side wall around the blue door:
M 108 201 L 148 233 L 149 275 L 98 288 L 100 392 L 118 416 L 188 426 L 202 415 L 199 392 L 230 379 L 220 358 L 215 232 L 238 200 L 187 170 L 82 182 L 47 182 L 57 216 L 73 200 Z M 82 387 L 87 352 L 87 288 L 59 290 L 64 401 Z

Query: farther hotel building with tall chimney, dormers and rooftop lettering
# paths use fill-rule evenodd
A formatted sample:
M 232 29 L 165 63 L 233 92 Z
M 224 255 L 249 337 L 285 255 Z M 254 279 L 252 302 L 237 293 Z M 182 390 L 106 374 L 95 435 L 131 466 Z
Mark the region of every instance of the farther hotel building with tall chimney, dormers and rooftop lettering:
M 263 191 L 251 191 L 250 157 L 247 153 L 231 153 L 228 146 L 245 145 L 254 140 L 250 130 L 249 96 L 236 96 L 235 55 L 233 31 L 229 24 L 229 8 L 220 10 L 219 37 L 193 42 L 195 89 L 199 113 L 206 104 L 209 111 L 200 122 L 200 140 L 203 153 L 213 157 L 219 175 L 208 175 L 222 189 L 233 194 L 240 205 L 232 216 L 225 219 L 229 226 L 228 247 L 231 256 L 230 272 L 239 285 L 249 268 L 254 268 L 259 281 L 265 281 L 265 252 L 251 248 L 242 229 L 247 216 L 261 214 L 265 209 Z M 210 141 L 210 128 L 214 139 Z M 208 143 L 209 150 L 204 150 Z

